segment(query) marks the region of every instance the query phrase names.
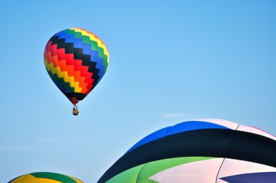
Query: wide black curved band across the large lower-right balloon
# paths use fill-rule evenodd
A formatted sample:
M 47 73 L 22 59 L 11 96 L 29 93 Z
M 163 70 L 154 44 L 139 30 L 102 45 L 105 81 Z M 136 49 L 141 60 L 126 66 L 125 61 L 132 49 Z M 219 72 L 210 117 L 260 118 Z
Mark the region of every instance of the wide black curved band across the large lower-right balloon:
M 230 129 L 200 129 L 166 136 L 123 155 L 100 178 L 106 182 L 134 166 L 167 158 L 206 156 L 232 158 L 276 167 L 276 141 Z

